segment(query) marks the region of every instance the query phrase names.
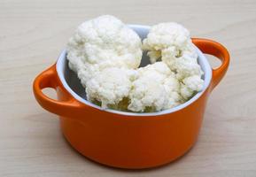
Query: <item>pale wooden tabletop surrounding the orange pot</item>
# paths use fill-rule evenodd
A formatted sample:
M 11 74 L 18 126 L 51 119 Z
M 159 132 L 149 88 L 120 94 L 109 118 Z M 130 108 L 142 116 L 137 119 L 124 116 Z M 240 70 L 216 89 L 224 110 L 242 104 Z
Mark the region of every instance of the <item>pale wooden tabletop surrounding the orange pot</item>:
M 146 171 L 93 163 L 35 102 L 35 76 L 56 61 L 75 27 L 101 14 L 146 25 L 177 21 L 229 49 L 229 72 L 209 99 L 198 142 L 175 163 Z M 1 0 L 0 176 L 255 177 L 255 35 L 255 0 Z

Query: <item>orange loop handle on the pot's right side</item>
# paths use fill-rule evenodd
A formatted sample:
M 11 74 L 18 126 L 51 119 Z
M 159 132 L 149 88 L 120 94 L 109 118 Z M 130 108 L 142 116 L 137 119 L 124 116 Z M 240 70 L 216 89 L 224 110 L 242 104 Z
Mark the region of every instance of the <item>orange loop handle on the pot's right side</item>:
M 229 67 L 229 51 L 219 42 L 214 42 L 209 39 L 192 38 L 192 42 L 203 53 L 213 55 L 221 59 L 221 65 L 213 69 L 212 89 L 214 89 L 221 81 Z

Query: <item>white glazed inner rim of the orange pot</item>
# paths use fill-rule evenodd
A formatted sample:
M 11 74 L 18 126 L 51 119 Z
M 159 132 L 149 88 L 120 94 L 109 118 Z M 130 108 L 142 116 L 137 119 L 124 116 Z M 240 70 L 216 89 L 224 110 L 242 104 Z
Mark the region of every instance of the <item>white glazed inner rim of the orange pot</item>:
M 146 37 L 146 35 L 149 32 L 150 27 L 149 26 L 142 26 L 142 25 L 128 25 L 129 27 L 131 27 L 134 31 L 136 31 L 136 33 L 143 39 L 144 37 Z M 66 50 L 63 50 L 58 58 L 57 61 L 57 73 L 58 73 L 58 77 L 60 79 L 60 81 L 62 82 L 64 88 L 72 95 L 74 96 L 74 98 L 76 100 L 78 100 L 79 102 L 81 102 L 82 104 L 87 104 L 91 107 L 97 108 L 103 112 L 112 112 L 112 113 L 117 113 L 117 114 L 122 114 L 122 115 L 128 115 L 128 116 L 157 116 L 157 115 L 162 115 L 162 114 L 167 114 L 167 113 L 171 113 L 171 112 L 176 112 L 181 110 L 182 108 L 192 104 L 193 102 L 195 102 L 198 97 L 200 97 L 207 89 L 207 87 L 210 84 L 210 81 L 212 79 L 212 67 L 209 65 L 205 55 L 198 50 L 198 48 L 196 48 L 198 51 L 198 63 L 199 65 L 201 65 L 202 70 L 204 71 L 204 88 L 202 89 L 202 91 L 199 91 L 195 96 L 193 96 L 189 101 L 185 102 L 184 104 L 180 104 L 178 106 L 175 106 L 174 108 L 171 109 L 167 109 L 161 112 L 148 112 L 148 113 L 136 113 L 136 112 L 120 112 L 120 111 L 116 111 L 116 110 L 112 110 L 112 109 L 102 109 L 100 106 L 96 105 L 96 104 L 92 104 L 89 101 L 87 101 L 86 99 L 82 98 L 81 96 L 77 95 L 73 89 L 71 89 L 65 79 L 65 64 L 66 64 Z

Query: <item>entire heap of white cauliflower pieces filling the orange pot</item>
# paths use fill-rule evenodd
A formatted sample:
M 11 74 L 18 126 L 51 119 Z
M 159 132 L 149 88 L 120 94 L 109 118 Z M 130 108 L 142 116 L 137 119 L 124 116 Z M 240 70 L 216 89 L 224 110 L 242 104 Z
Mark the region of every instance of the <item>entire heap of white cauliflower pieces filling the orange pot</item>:
M 142 48 L 151 65 L 138 68 Z M 190 32 L 176 23 L 151 27 L 143 45 L 136 32 L 110 15 L 82 23 L 67 43 L 69 68 L 89 102 L 128 112 L 159 112 L 203 89 Z M 161 61 L 158 61 L 161 60 Z

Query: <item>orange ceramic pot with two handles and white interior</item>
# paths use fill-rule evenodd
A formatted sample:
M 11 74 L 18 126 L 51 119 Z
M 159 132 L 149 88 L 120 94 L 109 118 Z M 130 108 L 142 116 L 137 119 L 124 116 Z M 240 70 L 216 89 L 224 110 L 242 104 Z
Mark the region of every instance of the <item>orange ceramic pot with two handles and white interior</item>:
M 149 27 L 131 25 L 144 38 Z M 76 75 L 68 69 L 66 51 L 55 65 L 40 73 L 34 81 L 37 102 L 60 118 L 66 140 L 82 155 L 104 165 L 140 169 L 167 164 L 190 150 L 198 138 L 213 88 L 229 66 L 229 52 L 220 43 L 193 38 L 198 63 L 204 71 L 204 89 L 188 102 L 155 113 L 103 110 L 85 99 Z M 220 58 L 212 69 L 203 53 Z M 145 65 L 143 58 L 143 65 Z M 56 89 L 58 100 L 45 96 L 44 88 Z

